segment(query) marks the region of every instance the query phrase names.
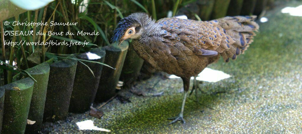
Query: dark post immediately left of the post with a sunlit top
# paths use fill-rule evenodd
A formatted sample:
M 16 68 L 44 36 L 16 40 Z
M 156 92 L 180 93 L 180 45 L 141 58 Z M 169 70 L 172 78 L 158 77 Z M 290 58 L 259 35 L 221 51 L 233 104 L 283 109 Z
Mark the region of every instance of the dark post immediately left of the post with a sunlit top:
M 77 61 L 63 59 L 50 65 L 43 122 L 64 120 L 68 113 Z

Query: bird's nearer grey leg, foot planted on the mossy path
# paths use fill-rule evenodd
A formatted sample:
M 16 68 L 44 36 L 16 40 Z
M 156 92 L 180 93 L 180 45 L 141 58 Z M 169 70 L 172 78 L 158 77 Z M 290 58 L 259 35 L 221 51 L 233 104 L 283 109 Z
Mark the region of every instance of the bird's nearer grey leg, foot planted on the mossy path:
M 188 90 L 190 87 L 190 78 L 182 78 L 182 81 L 184 82 L 184 99 L 182 100 L 182 109 L 178 116 L 168 119 L 168 120 L 173 120 L 168 125 L 176 123 L 177 121 L 182 121 L 182 123 L 184 123 L 184 124 L 186 123 L 186 121 L 183 118 L 183 115 L 184 115 L 184 109 L 185 109 L 185 102 L 186 102 Z

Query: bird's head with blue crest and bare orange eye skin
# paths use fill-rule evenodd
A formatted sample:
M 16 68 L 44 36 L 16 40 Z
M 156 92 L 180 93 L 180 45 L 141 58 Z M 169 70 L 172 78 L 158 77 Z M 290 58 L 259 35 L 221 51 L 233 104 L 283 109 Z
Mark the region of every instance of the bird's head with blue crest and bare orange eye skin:
M 111 42 L 119 42 L 120 44 L 129 38 L 139 38 L 143 33 L 142 22 L 146 19 L 149 19 L 146 13 L 133 13 L 121 19 L 113 31 Z

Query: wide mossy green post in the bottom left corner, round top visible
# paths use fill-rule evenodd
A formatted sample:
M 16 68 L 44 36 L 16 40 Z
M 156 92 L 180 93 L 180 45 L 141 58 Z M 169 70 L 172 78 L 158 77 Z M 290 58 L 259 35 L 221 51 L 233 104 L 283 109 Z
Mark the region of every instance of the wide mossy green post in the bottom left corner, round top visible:
M 5 89 L 2 133 L 24 133 L 34 80 L 27 77 L 0 88 Z

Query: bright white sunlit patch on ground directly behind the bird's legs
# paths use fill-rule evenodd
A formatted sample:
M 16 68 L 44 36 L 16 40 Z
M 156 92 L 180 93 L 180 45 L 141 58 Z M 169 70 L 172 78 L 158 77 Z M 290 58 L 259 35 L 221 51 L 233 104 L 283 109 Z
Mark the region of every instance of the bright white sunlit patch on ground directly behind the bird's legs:
M 217 82 L 230 77 L 231 75 L 226 74 L 222 71 L 205 68 L 201 73 L 198 74 L 196 79 L 198 81 Z M 180 77 L 175 75 L 170 75 L 169 78 L 180 78 Z M 194 79 L 194 77 L 191 77 L 191 79 Z

